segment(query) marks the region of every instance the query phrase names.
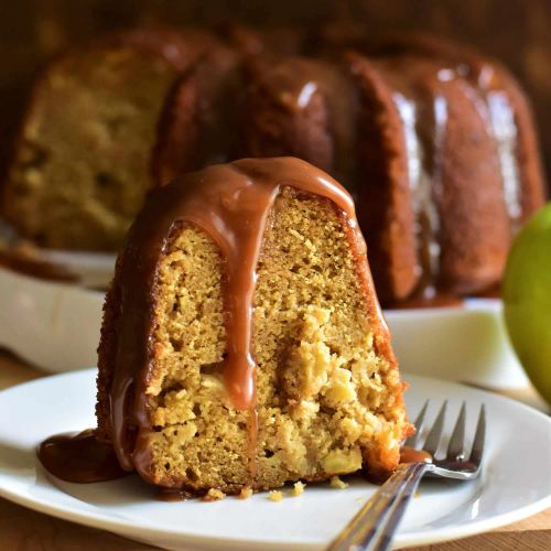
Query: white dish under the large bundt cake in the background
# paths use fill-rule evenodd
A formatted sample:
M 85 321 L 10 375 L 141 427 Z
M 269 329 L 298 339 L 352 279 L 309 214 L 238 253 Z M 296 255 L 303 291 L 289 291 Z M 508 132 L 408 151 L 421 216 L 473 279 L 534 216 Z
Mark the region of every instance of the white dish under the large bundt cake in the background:
M 73 263 L 88 268 L 80 256 L 71 255 Z M 104 298 L 0 268 L 0 346 L 50 372 L 95 365 Z M 398 359 L 409 372 L 497 389 L 529 386 L 509 345 L 498 300 L 385 315 Z

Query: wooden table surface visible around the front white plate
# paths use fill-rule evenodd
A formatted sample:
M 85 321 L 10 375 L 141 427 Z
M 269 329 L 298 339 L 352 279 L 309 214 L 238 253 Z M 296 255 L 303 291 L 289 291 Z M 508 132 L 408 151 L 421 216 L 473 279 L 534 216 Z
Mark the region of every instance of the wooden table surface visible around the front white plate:
M 22 364 L 7 353 L 0 352 L 0 389 L 43 376 L 43 372 Z M 526 395 L 522 398 L 537 403 L 537 399 L 532 396 Z M 0 498 L 0 549 L 19 551 L 128 551 L 152 548 L 101 530 L 82 527 L 34 512 Z M 551 509 L 479 536 L 413 549 L 417 551 L 550 551 Z

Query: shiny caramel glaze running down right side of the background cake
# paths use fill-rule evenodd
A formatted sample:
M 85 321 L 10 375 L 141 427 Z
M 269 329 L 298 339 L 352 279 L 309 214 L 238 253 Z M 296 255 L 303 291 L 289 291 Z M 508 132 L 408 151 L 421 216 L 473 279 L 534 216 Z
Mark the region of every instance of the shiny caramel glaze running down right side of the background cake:
M 518 229 L 522 214 L 515 112 L 507 95 L 499 91 L 499 75 L 472 53 L 466 60 L 447 62 L 436 51 L 428 50 L 423 54 L 398 51 L 396 56 L 375 62 L 392 89 L 392 99 L 403 123 L 415 215 L 420 281 L 411 296 L 411 305 L 400 304 L 403 307 L 449 305 L 445 293 L 442 300 L 437 296 L 441 294 L 442 258 L 439 199 L 445 185 L 441 162 L 446 139 L 447 82 L 461 80 L 465 93 L 475 100 L 488 134 L 494 138 L 511 233 Z

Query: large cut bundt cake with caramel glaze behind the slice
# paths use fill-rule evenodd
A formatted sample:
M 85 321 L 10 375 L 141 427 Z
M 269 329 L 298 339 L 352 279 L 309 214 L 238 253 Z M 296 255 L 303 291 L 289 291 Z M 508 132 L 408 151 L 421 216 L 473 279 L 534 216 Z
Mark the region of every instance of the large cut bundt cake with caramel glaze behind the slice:
M 4 190 L 23 235 L 116 249 L 152 185 L 293 155 L 355 196 L 383 305 L 499 283 L 544 195 L 529 107 L 501 66 L 357 29 L 141 34 L 69 53 L 39 83 Z

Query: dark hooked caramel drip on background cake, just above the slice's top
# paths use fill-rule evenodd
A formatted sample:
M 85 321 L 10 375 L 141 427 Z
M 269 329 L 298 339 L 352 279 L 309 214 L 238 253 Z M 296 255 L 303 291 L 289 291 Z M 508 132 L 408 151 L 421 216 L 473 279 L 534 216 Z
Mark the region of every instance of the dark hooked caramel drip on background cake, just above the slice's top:
M 291 57 L 266 75 L 267 87 L 285 108 L 305 109 L 315 94 L 321 94 L 328 109 L 328 123 L 333 140 L 333 166 L 338 180 L 354 185 L 356 159 L 350 154 L 356 140 L 357 91 L 348 74 L 328 61 Z M 318 159 L 309 159 L 318 163 Z

